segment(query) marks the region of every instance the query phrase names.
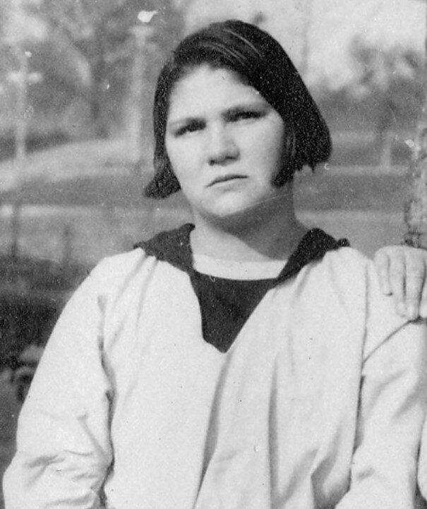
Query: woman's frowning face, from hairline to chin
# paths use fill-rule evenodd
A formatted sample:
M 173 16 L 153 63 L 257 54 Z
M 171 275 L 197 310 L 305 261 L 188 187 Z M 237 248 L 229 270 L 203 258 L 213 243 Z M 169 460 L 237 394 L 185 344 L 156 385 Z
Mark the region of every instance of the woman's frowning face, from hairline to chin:
M 282 117 L 232 71 L 203 65 L 176 83 L 165 142 L 196 215 L 241 215 L 282 193 L 272 185 L 283 164 Z

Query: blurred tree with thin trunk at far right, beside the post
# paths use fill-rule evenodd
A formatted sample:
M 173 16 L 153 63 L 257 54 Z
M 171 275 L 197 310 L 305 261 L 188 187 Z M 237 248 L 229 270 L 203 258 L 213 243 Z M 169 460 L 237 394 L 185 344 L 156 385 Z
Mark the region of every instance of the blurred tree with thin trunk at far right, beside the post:
M 352 55 L 357 65 L 359 94 L 371 97 L 380 165 L 391 164 L 393 129 L 410 124 L 423 101 L 423 59 L 413 49 L 381 48 L 356 38 Z

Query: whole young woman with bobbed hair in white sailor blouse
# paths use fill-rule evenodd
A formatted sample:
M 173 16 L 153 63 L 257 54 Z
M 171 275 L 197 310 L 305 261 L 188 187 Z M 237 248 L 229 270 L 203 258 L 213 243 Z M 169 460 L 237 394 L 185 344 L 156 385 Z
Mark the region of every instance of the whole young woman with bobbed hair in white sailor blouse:
M 330 155 L 279 44 L 241 21 L 176 48 L 155 179 L 193 224 L 102 261 L 54 330 L 6 508 L 411 508 L 427 342 L 370 261 L 296 220 Z

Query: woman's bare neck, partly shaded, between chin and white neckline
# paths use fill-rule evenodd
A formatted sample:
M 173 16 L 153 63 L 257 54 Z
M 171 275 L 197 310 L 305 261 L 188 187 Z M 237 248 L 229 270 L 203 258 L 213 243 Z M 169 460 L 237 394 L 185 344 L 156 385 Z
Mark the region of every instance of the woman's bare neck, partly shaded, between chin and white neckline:
M 296 220 L 289 184 L 277 198 L 244 217 L 210 220 L 194 215 L 191 234 L 194 253 L 234 261 L 283 260 L 307 229 Z

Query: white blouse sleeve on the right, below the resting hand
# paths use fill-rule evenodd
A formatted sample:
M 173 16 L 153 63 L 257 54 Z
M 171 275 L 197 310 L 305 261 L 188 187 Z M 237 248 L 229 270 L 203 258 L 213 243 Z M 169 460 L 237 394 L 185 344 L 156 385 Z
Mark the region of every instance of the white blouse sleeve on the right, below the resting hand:
M 399 318 L 381 297 L 368 307 L 350 486 L 336 509 L 410 509 L 426 412 L 426 326 L 395 328 Z

